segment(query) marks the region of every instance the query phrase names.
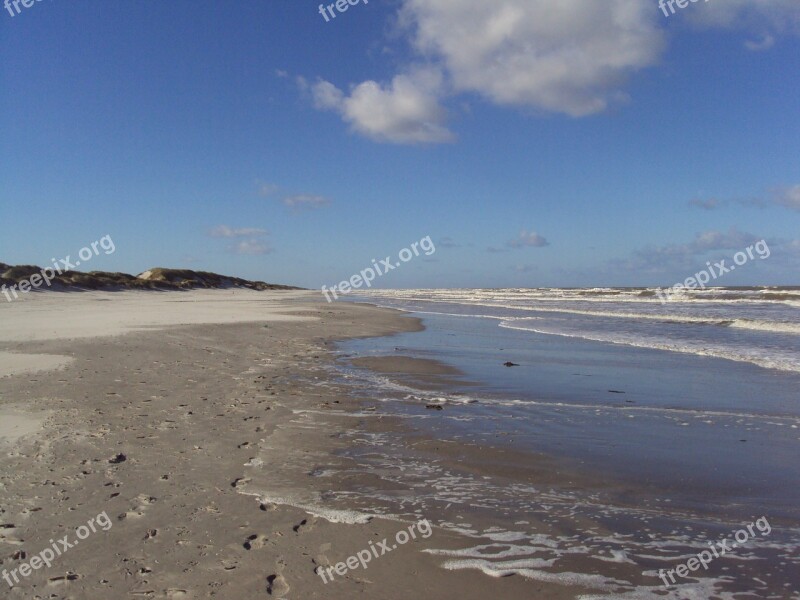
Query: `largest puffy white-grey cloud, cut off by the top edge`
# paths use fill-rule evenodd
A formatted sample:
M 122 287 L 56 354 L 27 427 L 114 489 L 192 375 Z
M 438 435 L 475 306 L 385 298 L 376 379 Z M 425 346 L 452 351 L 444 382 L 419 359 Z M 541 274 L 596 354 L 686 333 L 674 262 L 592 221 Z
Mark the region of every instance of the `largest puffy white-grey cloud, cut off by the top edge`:
M 456 91 L 572 116 L 624 100 L 664 47 L 645 0 L 406 0 L 401 15 Z

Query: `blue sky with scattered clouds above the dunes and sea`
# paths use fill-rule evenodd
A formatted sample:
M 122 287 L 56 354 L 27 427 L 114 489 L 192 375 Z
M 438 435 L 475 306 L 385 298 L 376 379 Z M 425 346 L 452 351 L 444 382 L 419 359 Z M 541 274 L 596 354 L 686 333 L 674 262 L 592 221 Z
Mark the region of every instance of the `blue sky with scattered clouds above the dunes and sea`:
M 7 4 L 0 262 L 800 285 L 797 0 L 351 1 Z

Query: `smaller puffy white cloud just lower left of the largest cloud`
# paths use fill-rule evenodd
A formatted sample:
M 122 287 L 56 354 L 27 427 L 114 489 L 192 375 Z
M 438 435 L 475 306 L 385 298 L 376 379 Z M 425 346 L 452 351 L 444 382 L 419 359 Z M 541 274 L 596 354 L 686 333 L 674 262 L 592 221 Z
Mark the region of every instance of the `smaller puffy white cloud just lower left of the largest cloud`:
M 314 106 L 339 113 L 353 131 L 379 142 L 450 142 L 446 111 L 439 104 L 442 76 L 435 69 L 397 75 L 388 86 L 365 81 L 345 94 L 329 81 L 311 88 Z

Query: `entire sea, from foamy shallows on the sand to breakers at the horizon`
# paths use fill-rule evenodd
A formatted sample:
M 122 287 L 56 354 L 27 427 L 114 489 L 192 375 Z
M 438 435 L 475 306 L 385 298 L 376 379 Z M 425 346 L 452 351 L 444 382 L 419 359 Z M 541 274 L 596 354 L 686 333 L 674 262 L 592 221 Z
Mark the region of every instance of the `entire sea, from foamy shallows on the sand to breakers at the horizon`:
M 596 590 L 587 598 L 800 597 L 800 288 L 690 291 L 667 304 L 643 288 L 355 300 L 412 313 L 426 330 L 340 347 L 342 376 L 407 429 L 354 434 L 348 457 L 383 483 L 347 506 L 463 531 L 473 543 L 442 551 L 446 568 Z M 464 375 L 433 389 L 347 362 L 385 355 Z M 486 458 L 461 468 L 409 442 L 425 438 L 450 459 L 458 448 Z M 565 481 L 537 483 L 529 467 L 542 458 Z M 761 517 L 768 536 L 660 586 L 660 569 Z

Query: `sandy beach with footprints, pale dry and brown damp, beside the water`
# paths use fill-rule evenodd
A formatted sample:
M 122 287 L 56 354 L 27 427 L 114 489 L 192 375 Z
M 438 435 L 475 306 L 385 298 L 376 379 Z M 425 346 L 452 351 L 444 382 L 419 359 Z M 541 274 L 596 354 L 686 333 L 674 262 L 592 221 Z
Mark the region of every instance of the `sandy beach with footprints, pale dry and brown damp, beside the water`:
M 420 326 L 318 299 L 93 292 L 0 305 L 0 569 L 19 569 L 50 540 L 74 541 L 101 513 L 113 524 L 13 588 L 0 579 L 0 597 L 573 597 L 520 577 L 442 569 L 420 550 L 462 541 L 440 529 L 322 582 L 318 567 L 408 525 L 340 523 L 342 515 L 278 499 L 289 484 L 302 495 L 303 482 L 332 460 L 339 432 L 319 423 L 335 428 L 336 420 L 314 415 L 361 404 L 346 386 L 328 384 L 331 342 Z M 290 433 L 298 428 L 309 435 Z M 258 492 L 248 487 L 256 467 L 276 491 L 269 501 L 248 495 Z M 294 481 L 271 481 L 273 470 Z

